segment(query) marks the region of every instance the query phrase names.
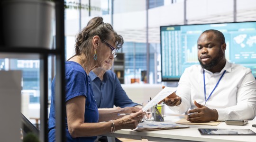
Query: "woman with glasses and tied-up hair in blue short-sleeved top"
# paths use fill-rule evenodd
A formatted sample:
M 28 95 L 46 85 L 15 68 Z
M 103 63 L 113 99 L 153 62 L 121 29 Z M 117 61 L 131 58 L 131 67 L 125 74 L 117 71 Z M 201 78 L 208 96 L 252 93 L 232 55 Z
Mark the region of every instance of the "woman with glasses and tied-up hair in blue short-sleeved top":
M 137 107 L 98 110 L 88 73 L 113 60 L 123 44 L 103 18 L 92 18 L 77 35 L 75 55 L 65 62 L 66 139 L 67 142 L 93 142 L 97 135 L 120 129 L 136 128 L 143 118 Z M 123 117 L 119 113 L 131 113 Z M 99 123 L 101 122 L 101 123 Z M 49 115 L 49 142 L 55 141 L 55 79 L 52 82 L 52 102 Z

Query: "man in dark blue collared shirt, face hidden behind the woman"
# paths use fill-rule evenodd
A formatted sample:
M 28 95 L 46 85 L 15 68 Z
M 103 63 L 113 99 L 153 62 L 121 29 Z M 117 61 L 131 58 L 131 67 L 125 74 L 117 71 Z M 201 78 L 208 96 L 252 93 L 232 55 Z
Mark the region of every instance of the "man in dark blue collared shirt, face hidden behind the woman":
M 97 107 L 113 108 L 114 105 L 122 108 L 140 106 L 128 98 L 116 74 L 110 71 L 113 61 L 114 55 L 105 63 L 103 68 L 95 68 L 89 73 Z

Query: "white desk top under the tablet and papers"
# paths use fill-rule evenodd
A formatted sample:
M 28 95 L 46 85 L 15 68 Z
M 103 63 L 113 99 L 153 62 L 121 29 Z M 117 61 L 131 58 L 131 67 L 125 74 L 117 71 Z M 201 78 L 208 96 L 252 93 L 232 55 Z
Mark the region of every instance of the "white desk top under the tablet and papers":
M 177 119 L 175 119 L 176 121 Z M 175 122 L 173 121 L 173 122 Z M 104 136 L 109 137 L 121 137 L 121 138 L 129 138 L 129 139 L 147 139 L 148 141 L 156 141 L 156 142 L 193 142 L 193 141 L 201 141 L 201 142 L 256 142 L 255 136 L 241 136 L 241 135 L 201 135 L 198 128 L 225 128 L 225 129 L 251 129 L 256 132 L 256 128 L 252 127 L 252 124 L 256 124 L 256 121 L 249 121 L 248 124 L 244 126 L 236 126 L 236 125 L 226 125 L 225 122 L 220 123 L 217 126 L 210 125 L 189 125 L 190 128 L 183 129 L 169 129 L 169 130 L 157 130 L 157 131 L 145 131 L 145 132 L 137 132 L 130 129 L 123 129 L 116 131 L 113 134 L 106 133 Z

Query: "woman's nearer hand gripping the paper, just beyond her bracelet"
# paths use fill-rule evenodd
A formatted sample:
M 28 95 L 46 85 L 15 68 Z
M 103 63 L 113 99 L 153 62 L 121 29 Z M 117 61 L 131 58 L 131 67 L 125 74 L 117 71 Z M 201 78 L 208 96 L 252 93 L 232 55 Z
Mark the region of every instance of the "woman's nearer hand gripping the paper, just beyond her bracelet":
M 120 129 L 135 129 L 143 118 L 143 111 L 139 110 L 136 113 L 125 115 L 124 117 L 116 120 L 118 121 L 118 130 Z

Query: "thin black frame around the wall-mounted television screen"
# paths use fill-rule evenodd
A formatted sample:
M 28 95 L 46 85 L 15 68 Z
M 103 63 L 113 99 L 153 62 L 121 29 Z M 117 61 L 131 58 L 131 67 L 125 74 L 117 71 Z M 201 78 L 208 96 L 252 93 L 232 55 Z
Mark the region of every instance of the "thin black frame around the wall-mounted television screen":
M 168 25 L 168 26 L 160 26 L 160 53 L 161 53 L 161 80 L 162 82 L 177 82 L 180 80 L 180 78 L 171 78 L 171 79 L 164 79 L 163 80 L 163 60 L 162 60 L 162 34 L 161 34 L 161 28 L 162 27 L 175 27 L 175 26 L 194 26 L 194 25 L 210 25 L 210 24 L 230 24 L 230 23 L 249 23 L 249 22 L 256 22 L 256 21 L 241 21 L 241 22 L 221 22 L 221 23 L 203 23 L 203 24 L 188 24 L 188 25 Z M 214 28 L 211 28 L 214 29 Z M 256 77 L 255 77 L 256 80 Z

